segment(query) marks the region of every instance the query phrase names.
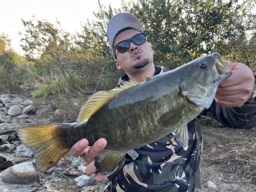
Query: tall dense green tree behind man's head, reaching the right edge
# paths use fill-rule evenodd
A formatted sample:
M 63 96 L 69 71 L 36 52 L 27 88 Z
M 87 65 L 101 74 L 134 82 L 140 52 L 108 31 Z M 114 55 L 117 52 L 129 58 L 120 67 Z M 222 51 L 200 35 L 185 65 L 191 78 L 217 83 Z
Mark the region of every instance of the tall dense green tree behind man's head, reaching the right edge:
M 122 1 L 121 8 L 117 10 L 111 6 L 106 9 L 100 1 L 98 3 L 100 10 L 94 13 L 97 20 L 84 25 L 79 41 L 83 49 L 87 49 L 89 44 L 91 48 L 94 45 L 101 46 L 101 58 L 113 63 L 107 66 L 108 69 L 115 68 L 115 65 L 106 26 L 109 19 L 120 12 L 130 12 L 139 18 L 155 51 L 155 64 L 170 69 L 212 52 L 220 52 L 225 56 L 229 51 L 230 54 L 232 50 L 227 49 L 228 46 L 241 44 L 241 37 L 248 41 L 249 36 L 246 34 L 256 29 L 252 25 L 255 14 L 251 13 L 255 0 Z M 242 45 L 248 44 L 241 44 L 240 47 Z M 113 70 L 111 73 L 116 72 Z

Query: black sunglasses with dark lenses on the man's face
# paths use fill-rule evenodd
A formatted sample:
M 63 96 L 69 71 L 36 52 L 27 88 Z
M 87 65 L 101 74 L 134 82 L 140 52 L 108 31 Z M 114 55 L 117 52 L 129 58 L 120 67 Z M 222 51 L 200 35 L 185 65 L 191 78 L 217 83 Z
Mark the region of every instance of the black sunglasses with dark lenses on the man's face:
M 142 45 L 144 42 L 146 42 L 146 33 L 139 33 L 134 35 L 130 39 L 122 40 L 121 42 L 118 42 L 117 45 L 114 46 L 114 48 L 119 52 L 119 53 L 124 53 L 130 49 L 130 41 L 132 41 L 136 45 Z M 115 54 L 116 57 L 116 54 Z

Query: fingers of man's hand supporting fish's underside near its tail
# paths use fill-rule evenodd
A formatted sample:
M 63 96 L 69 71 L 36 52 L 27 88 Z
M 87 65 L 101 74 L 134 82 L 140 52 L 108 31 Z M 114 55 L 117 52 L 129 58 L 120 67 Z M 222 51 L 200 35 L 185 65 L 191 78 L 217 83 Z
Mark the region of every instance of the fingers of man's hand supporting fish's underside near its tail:
M 100 138 L 92 146 L 88 146 L 89 141 L 87 139 L 81 139 L 70 150 L 73 157 L 82 157 L 84 165 L 86 165 L 86 173 L 88 175 L 96 174 L 95 178 L 97 181 L 104 181 L 109 176 L 101 175 L 94 166 L 95 158 L 105 148 L 106 143 L 104 138 Z

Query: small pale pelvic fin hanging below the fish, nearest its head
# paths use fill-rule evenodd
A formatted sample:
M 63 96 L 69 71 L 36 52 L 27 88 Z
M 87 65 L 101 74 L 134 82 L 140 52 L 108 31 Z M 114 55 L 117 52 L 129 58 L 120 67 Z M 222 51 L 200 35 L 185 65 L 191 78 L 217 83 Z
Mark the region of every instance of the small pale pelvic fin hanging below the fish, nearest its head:
M 181 146 L 186 151 L 188 148 L 188 130 L 187 130 L 187 124 L 181 125 L 178 129 L 175 130 L 173 133 L 176 137 L 176 139 L 179 141 Z

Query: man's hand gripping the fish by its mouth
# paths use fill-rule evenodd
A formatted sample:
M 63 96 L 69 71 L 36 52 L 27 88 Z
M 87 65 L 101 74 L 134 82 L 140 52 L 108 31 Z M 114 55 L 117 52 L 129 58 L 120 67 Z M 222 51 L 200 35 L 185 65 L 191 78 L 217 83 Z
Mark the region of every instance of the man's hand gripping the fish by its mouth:
M 215 100 L 221 106 L 242 106 L 253 92 L 255 77 L 243 63 L 224 63 L 232 73 L 219 85 Z

